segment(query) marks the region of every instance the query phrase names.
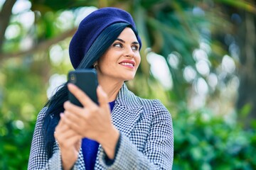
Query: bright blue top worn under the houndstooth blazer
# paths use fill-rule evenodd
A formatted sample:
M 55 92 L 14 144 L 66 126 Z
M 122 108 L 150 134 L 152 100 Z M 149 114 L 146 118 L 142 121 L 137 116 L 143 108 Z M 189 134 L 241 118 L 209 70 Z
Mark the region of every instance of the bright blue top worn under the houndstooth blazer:
M 110 102 L 110 111 L 114 108 L 115 101 Z M 85 162 L 85 169 L 94 169 L 99 143 L 88 138 L 82 139 L 82 156 Z

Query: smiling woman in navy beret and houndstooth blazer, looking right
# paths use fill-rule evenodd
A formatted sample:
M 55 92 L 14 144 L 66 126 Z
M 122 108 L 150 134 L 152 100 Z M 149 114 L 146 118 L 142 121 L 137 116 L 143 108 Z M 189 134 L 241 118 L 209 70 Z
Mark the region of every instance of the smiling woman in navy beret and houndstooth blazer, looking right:
M 99 105 L 64 84 L 38 114 L 28 169 L 171 169 L 169 111 L 124 84 L 136 74 L 141 47 L 126 11 L 101 8 L 82 20 L 70 61 L 75 69 L 96 69 Z M 68 101 L 68 90 L 83 107 Z

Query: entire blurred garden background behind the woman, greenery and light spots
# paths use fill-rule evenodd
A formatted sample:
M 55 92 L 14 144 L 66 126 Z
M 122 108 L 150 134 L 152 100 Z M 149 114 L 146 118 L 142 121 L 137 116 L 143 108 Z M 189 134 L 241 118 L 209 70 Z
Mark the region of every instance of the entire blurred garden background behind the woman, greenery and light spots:
M 105 6 L 132 14 L 129 89 L 174 123 L 173 169 L 256 169 L 255 0 L 0 0 L 0 169 L 27 169 L 38 112 L 72 68 L 70 38 Z

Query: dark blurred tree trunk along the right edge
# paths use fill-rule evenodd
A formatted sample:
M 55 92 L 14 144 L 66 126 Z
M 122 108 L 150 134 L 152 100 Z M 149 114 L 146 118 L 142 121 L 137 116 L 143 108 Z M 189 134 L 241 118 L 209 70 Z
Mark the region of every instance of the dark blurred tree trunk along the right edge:
M 256 119 L 256 16 L 243 12 L 244 21 L 240 27 L 240 67 L 238 70 L 240 86 L 238 89 L 237 108 L 239 118 L 245 128 L 251 127 L 251 120 Z M 247 112 L 247 114 L 245 114 Z

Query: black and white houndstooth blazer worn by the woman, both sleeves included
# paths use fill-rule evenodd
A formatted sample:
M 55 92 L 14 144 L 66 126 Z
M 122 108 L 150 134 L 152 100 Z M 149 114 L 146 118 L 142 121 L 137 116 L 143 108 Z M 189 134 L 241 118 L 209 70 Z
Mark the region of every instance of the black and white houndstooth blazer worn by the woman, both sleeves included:
M 43 117 L 38 114 L 33 133 L 28 169 L 62 169 L 60 149 L 55 142 L 53 157 L 43 148 Z M 174 159 L 174 132 L 169 111 L 159 100 L 135 96 L 124 84 L 112 111 L 112 122 L 122 134 L 114 163 L 107 165 L 99 146 L 95 169 L 171 169 Z M 73 169 L 85 169 L 80 149 Z

